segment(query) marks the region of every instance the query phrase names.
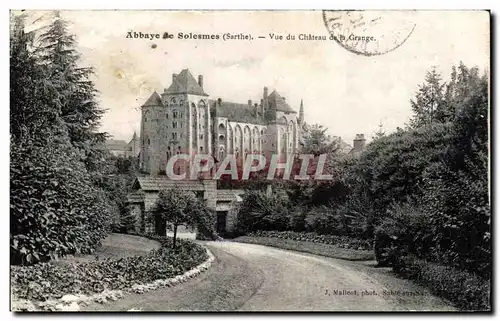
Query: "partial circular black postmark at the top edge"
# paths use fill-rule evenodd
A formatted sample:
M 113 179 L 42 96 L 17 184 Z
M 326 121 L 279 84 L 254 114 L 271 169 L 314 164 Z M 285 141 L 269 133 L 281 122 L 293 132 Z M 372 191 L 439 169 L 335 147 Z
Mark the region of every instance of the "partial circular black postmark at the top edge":
M 358 55 L 377 56 L 405 43 L 415 29 L 410 11 L 323 10 L 333 39 Z

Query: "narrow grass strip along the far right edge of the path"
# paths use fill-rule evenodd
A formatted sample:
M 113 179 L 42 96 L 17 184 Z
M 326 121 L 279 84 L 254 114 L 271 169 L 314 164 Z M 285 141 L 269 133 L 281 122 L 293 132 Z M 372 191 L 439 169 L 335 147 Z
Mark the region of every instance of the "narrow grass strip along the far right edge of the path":
M 232 241 L 277 247 L 349 261 L 368 261 L 375 258 L 373 251 L 344 249 L 331 244 L 295 241 L 275 237 L 240 236 Z

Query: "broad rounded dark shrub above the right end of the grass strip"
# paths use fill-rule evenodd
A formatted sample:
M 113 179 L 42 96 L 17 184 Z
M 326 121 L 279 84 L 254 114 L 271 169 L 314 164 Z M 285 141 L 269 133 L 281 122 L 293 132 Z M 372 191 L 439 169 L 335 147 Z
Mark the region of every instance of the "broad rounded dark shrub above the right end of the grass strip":
M 422 173 L 439 162 L 443 150 L 451 142 L 450 124 L 398 131 L 370 143 L 353 165 L 353 190 L 357 195 L 368 194 L 373 209 L 371 223 L 382 223 L 394 202 L 423 195 Z

